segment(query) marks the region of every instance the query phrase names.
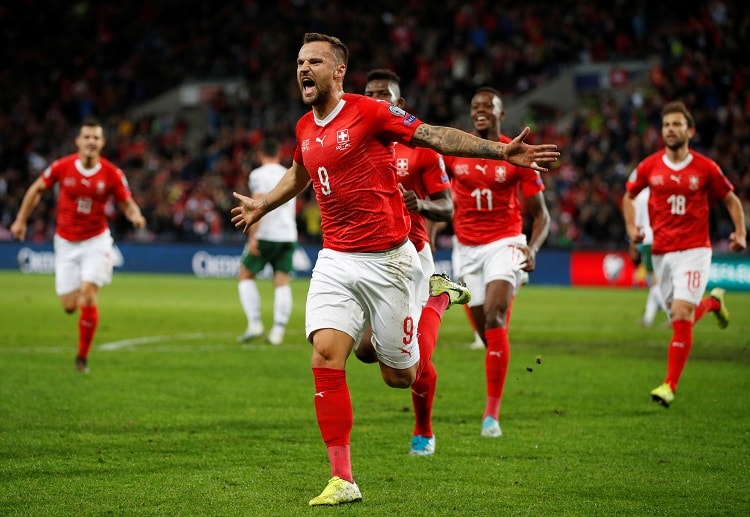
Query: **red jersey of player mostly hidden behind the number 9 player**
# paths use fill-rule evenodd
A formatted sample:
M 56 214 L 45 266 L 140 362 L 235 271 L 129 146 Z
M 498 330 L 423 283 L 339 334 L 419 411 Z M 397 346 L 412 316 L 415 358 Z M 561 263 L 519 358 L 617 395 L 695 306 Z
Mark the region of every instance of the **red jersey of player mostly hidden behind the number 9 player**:
M 409 147 L 396 144 L 396 177 L 406 190 L 413 190 L 420 199 L 428 199 L 449 189 L 451 184 L 445 172 L 443 158 L 432 149 Z M 409 211 L 411 231 L 409 240 L 418 250 L 429 242 L 425 218 L 422 214 Z

